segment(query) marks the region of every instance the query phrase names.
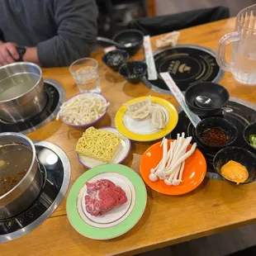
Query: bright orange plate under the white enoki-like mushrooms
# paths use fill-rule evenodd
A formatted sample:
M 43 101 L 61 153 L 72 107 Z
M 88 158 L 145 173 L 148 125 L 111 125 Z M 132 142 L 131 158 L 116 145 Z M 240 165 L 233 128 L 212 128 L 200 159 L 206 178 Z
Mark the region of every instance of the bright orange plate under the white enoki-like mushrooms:
M 169 143 L 170 141 L 173 140 L 168 140 Z M 154 183 L 149 180 L 150 169 L 156 167 L 163 156 L 163 148 L 160 145 L 161 142 L 151 146 L 141 158 L 140 175 L 145 183 L 155 191 L 165 195 L 183 195 L 198 187 L 206 176 L 206 159 L 198 149 L 186 159 L 183 170 L 183 182 L 178 186 L 168 186 L 160 179 Z M 188 149 L 191 147 L 192 145 L 188 145 Z

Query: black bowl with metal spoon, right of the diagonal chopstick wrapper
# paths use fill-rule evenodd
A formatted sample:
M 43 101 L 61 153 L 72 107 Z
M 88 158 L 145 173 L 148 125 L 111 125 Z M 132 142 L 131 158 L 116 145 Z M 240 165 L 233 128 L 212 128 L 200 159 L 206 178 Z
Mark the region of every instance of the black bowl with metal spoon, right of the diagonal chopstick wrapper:
M 198 107 L 195 100 L 197 96 L 210 97 L 214 107 Z M 229 102 L 230 93 L 218 83 L 202 82 L 192 85 L 185 92 L 187 107 L 198 116 L 215 116 Z

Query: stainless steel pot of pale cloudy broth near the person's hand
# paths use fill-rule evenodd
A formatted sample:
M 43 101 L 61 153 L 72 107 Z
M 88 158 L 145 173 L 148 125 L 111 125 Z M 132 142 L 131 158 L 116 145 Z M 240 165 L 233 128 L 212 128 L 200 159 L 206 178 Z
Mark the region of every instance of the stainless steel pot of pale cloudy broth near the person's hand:
M 22 90 L 21 95 L 17 95 L 16 90 L 14 97 L 10 92 L 8 98 L 1 99 L 2 93 L 6 92 L 7 88 L 26 84 L 27 91 Z M 42 111 L 45 104 L 44 81 L 38 65 L 18 62 L 0 68 L 0 119 L 3 122 L 26 121 Z

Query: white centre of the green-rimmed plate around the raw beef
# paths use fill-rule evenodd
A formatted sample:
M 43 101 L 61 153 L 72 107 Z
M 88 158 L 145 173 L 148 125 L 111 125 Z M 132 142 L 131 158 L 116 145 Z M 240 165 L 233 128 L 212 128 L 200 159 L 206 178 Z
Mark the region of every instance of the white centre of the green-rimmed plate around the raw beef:
M 99 179 L 109 179 L 116 186 L 121 187 L 126 192 L 127 201 L 121 206 L 114 207 L 111 211 L 103 216 L 92 216 L 86 211 L 84 197 L 88 195 L 86 184 L 82 187 L 78 194 L 77 209 L 79 216 L 88 224 L 97 228 L 112 227 L 126 220 L 127 216 L 133 210 L 136 201 L 135 187 L 130 180 L 119 173 L 101 173 L 93 177 L 88 183 L 94 183 Z

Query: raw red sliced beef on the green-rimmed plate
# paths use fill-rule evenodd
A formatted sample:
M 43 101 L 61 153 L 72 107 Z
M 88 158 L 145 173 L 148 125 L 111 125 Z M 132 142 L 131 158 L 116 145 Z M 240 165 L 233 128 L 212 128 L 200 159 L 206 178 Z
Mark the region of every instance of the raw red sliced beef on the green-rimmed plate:
M 92 216 L 102 216 L 127 201 L 126 192 L 108 179 L 102 178 L 86 185 L 88 195 L 85 196 L 85 206 Z

